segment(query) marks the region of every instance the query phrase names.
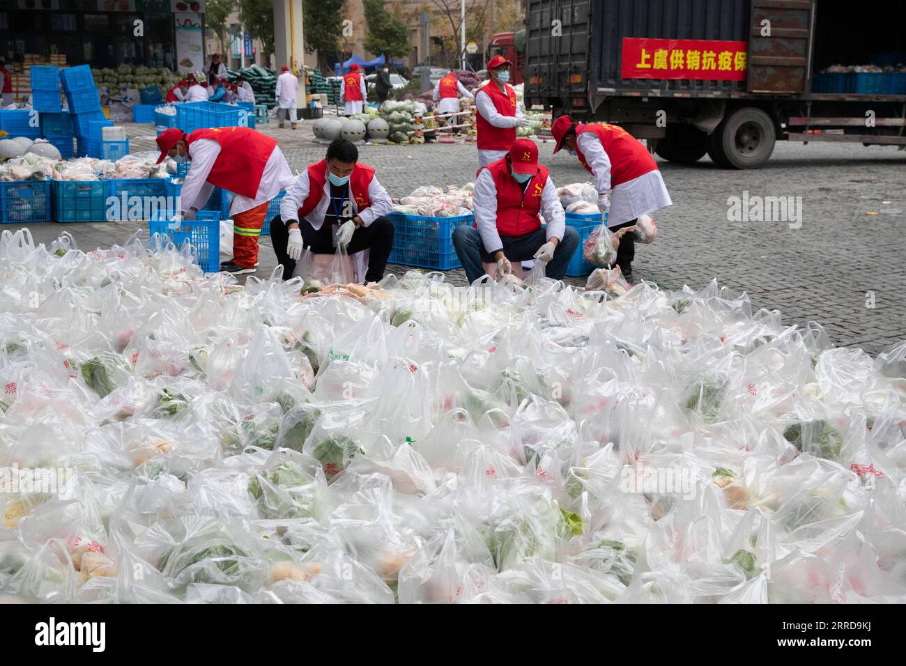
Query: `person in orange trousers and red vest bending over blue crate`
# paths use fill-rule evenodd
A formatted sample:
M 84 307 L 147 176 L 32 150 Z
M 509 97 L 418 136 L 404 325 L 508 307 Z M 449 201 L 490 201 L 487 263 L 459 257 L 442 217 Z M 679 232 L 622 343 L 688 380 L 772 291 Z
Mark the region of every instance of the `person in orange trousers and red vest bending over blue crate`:
M 247 127 L 218 127 L 190 134 L 170 128 L 158 137 L 160 158 L 191 160 L 180 192 L 179 215 L 195 219 L 214 188 L 233 193 L 233 258 L 220 270 L 233 275 L 255 273 L 258 236 L 267 205 L 293 182 L 277 141 Z

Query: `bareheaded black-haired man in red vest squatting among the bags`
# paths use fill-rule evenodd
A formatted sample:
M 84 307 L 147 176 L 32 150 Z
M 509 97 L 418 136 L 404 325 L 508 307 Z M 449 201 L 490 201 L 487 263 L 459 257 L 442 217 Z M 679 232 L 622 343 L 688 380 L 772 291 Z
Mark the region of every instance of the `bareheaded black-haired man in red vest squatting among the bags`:
M 359 150 L 350 140 L 336 139 L 320 162 L 309 164 L 286 190 L 280 217 L 271 221 L 271 239 L 284 280 L 293 277 L 303 246 L 313 254 L 336 252 L 336 243 L 354 255 L 370 249 L 365 282 L 384 276 L 393 248 L 393 210 L 390 195 L 359 163 Z M 338 227 L 338 228 L 335 228 Z

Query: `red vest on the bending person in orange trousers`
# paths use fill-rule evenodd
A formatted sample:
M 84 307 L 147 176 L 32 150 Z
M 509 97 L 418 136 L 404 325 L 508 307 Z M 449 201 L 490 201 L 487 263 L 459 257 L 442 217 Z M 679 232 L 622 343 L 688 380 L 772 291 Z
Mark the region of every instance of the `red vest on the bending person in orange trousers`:
M 192 143 L 199 139 L 220 144 L 220 154 L 207 174 L 207 182 L 243 197 L 255 198 L 265 164 L 274 152 L 277 140 L 247 127 L 195 130 L 186 135 L 189 158 L 192 157 Z

